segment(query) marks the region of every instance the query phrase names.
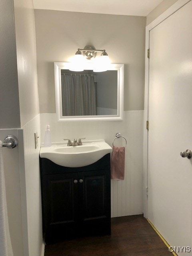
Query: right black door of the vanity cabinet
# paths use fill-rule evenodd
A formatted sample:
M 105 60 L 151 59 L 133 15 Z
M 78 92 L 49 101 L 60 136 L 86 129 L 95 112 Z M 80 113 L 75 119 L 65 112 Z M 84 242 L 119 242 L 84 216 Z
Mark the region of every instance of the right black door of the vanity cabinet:
M 110 170 L 79 172 L 79 218 L 84 234 L 110 234 Z

